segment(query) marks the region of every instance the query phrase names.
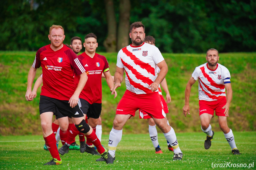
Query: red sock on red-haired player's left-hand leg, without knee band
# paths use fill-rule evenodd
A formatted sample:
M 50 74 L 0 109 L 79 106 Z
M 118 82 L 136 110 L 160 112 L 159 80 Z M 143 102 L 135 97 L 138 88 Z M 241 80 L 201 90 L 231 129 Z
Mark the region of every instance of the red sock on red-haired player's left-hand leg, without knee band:
M 50 151 L 50 154 L 53 158 L 58 159 L 58 161 L 61 160 L 59 152 L 58 152 L 58 148 L 56 146 L 56 139 L 55 139 L 55 135 L 54 133 L 52 133 L 51 135 L 44 137 L 44 141 L 45 144 L 47 145 L 47 148 Z

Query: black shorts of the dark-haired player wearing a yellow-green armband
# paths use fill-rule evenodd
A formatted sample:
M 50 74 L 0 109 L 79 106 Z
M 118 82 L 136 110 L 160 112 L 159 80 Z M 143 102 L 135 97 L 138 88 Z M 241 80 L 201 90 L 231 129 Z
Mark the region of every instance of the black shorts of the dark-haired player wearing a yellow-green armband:
M 101 115 L 101 103 L 90 104 L 85 99 L 79 99 L 78 105 L 82 109 L 83 113 L 87 115 L 87 118 L 89 119 L 91 117 L 93 119 L 98 119 Z

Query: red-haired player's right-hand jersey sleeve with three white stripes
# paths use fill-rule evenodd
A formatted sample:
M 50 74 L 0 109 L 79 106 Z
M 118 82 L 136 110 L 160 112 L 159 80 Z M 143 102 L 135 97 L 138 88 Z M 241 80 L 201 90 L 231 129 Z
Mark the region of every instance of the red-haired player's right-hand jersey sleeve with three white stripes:
M 77 75 L 85 72 L 85 68 L 81 64 L 81 61 L 77 58 L 77 55 L 71 49 L 68 49 L 67 51 L 65 51 L 65 53 L 69 57 L 70 65 Z

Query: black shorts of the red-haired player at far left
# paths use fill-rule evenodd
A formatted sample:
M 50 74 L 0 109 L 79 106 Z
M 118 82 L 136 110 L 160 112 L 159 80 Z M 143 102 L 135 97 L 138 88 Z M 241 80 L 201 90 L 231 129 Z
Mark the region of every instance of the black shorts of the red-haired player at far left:
M 39 112 L 40 114 L 42 114 L 49 111 L 55 113 L 56 118 L 58 113 L 61 113 L 63 117 L 64 116 L 69 116 L 69 117 L 84 116 L 82 110 L 79 108 L 78 105 L 75 106 L 74 108 L 71 108 L 69 106 L 69 101 L 67 100 L 58 100 L 55 98 L 50 98 L 50 97 L 41 95 L 40 101 L 39 101 Z M 60 116 L 58 116 L 58 118 L 60 118 Z

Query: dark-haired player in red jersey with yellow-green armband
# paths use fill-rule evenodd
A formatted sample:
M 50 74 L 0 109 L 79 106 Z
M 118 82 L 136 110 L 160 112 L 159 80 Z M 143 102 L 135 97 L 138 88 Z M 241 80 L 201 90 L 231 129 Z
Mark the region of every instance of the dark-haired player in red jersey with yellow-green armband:
M 98 47 L 97 37 L 95 34 L 90 33 L 85 36 L 84 42 L 85 52 L 77 56 L 84 68 L 86 69 L 86 74 L 88 75 L 88 80 L 85 87 L 80 93 L 79 106 L 82 109 L 83 113 L 88 117 L 88 124 L 96 131 L 96 126 L 98 123 L 98 118 L 101 114 L 101 98 L 102 98 L 102 85 L 101 85 L 101 75 L 102 73 L 106 77 L 107 84 L 109 88 L 114 87 L 114 82 L 112 76 L 109 72 L 109 64 L 104 56 L 101 56 L 96 53 L 96 48 Z M 76 82 L 79 81 L 80 77 L 75 75 Z M 116 97 L 116 92 L 113 92 Z M 77 135 L 78 131 L 73 125 L 68 134 L 66 145 L 71 144 L 71 140 Z M 63 145 L 59 149 L 59 153 L 62 155 L 65 154 L 62 152 L 63 148 L 67 146 Z M 99 153 L 93 147 L 93 143 L 90 139 L 87 138 L 85 145 L 85 152 L 92 155 L 99 155 Z

